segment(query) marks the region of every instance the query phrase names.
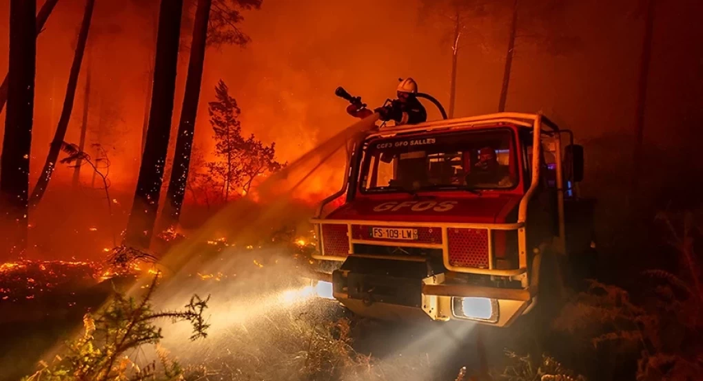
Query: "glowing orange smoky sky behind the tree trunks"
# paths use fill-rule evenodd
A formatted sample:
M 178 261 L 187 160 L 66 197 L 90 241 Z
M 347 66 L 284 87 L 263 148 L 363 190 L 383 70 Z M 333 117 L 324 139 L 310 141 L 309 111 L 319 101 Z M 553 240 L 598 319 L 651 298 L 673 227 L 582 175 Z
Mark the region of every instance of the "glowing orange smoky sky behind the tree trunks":
M 536 1 L 521 1 L 508 110 L 544 112 L 572 129 L 581 142 L 631 135 L 644 29 L 641 2 L 564 1 L 546 11 Z M 88 139 L 110 147 L 113 184 L 125 187 L 134 186 L 138 171 L 146 73 L 153 59 L 153 13 L 134 3 L 96 4 L 67 133 L 68 141 L 78 140 L 90 67 Z M 412 76 L 420 91 L 448 107 L 447 35 L 452 25 L 441 3 L 428 9 L 420 0 L 264 0 L 260 10 L 244 13 L 240 25 L 250 44 L 207 51 L 196 144 L 205 152 L 212 149 L 207 102 L 213 100 L 219 79 L 239 102 L 243 131 L 276 142 L 280 161 L 295 159 L 354 122 L 344 113 L 344 100 L 333 95 L 337 86 L 361 95 L 369 105 L 380 105 L 394 95 L 399 78 Z M 645 142 L 683 149 L 693 146 L 691 135 L 703 120 L 703 6 L 696 0 L 656 3 Z M 59 0 L 37 39 L 33 179 L 63 104 L 83 6 L 82 0 Z M 467 16 L 458 56 L 456 116 L 497 110 L 510 24 L 507 9 L 497 6 L 489 15 Z M 9 1 L 1 0 L 3 73 L 8 10 Z M 182 40 L 188 42 L 190 36 Z M 554 41 L 561 46 L 557 51 Z M 181 49 L 173 125 L 183 99 L 187 58 Z M 431 119 L 439 118 L 431 105 L 427 108 Z M 100 132 L 98 126 L 109 128 Z M 334 168 L 330 164 L 330 171 Z M 70 171 L 58 168 L 57 178 L 67 181 Z

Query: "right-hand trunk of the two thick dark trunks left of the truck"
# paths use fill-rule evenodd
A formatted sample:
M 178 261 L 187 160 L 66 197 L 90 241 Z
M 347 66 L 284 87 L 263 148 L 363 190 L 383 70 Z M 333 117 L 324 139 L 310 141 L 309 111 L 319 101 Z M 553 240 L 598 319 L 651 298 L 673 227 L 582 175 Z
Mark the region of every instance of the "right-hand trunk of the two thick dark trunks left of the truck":
M 178 224 L 183 206 L 183 196 L 186 194 L 188 169 L 191 166 L 191 151 L 193 135 L 195 135 L 195 117 L 198 114 L 200 100 L 200 84 L 202 83 L 202 67 L 205 62 L 205 41 L 207 40 L 207 20 L 212 0 L 198 0 L 193 25 L 193 41 L 191 42 L 191 58 L 188 63 L 188 78 L 183 94 L 183 107 L 179 121 L 178 137 L 174 161 L 171 167 L 171 180 L 166 192 L 166 205 L 163 216 L 168 225 Z

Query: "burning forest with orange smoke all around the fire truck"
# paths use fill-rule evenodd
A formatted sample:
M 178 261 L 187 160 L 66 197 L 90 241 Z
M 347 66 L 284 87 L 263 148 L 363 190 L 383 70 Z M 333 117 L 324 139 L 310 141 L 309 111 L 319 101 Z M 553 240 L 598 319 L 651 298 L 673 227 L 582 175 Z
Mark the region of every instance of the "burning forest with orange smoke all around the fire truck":
M 701 12 L 1 0 L 0 380 L 699 379 Z M 311 218 L 353 205 L 318 210 L 375 122 L 335 88 L 383 117 L 408 77 L 449 119 L 535 113 L 583 147 L 590 248 L 551 309 L 399 324 L 314 298 Z

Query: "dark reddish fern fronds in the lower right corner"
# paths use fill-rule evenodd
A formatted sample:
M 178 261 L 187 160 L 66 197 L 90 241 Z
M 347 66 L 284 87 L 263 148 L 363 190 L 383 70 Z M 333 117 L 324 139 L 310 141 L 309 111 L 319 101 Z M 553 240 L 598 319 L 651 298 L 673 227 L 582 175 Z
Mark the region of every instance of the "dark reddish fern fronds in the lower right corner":
M 638 358 L 638 381 L 697 380 L 703 374 L 703 314 L 700 267 L 690 212 L 657 215 L 666 241 L 681 258 L 682 276 L 661 269 L 641 273 L 636 302 L 624 288 L 590 281 L 555 321 L 555 328 L 589 337 Z M 677 223 L 678 222 L 678 223 Z M 680 226 L 682 229 L 676 229 Z

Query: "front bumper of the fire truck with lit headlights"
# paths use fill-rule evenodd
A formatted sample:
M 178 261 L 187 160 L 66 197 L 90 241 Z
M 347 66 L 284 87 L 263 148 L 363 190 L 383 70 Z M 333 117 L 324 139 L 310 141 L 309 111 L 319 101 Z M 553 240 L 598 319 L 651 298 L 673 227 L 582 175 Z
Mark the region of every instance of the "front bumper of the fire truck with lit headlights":
M 423 271 L 428 268 L 425 262 L 409 267 L 404 261 L 373 262 L 373 268 L 345 262 L 347 266 L 333 274 L 315 273 L 311 278 L 330 282 L 333 298 L 355 314 L 389 321 L 462 320 L 505 327 L 535 301 L 536 289 L 449 283 L 443 273 Z M 400 274 L 382 271 L 401 264 L 406 268 Z

